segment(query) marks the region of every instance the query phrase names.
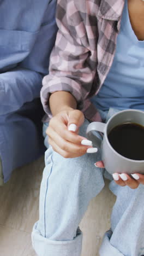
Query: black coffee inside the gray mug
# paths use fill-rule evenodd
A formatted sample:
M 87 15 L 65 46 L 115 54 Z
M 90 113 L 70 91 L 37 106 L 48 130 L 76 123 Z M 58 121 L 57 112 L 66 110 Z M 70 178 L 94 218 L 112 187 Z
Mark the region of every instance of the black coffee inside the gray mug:
M 144 127 L 135 123 L 115 126 L 108 135 L 113 149 L 125 158 L 144 160 Z

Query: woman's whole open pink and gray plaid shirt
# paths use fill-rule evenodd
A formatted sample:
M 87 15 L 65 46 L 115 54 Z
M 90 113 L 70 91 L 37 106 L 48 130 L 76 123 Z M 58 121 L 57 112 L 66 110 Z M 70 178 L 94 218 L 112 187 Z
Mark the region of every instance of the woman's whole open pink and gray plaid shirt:
M 49 74 L 43 79 L 41 102 L 51 118 L 49 96 L 68 91 L 85 117 L 99 121 L 89 101 L 97 95 L 113 62 L 124 0 L 58 0 L 58 33 Z

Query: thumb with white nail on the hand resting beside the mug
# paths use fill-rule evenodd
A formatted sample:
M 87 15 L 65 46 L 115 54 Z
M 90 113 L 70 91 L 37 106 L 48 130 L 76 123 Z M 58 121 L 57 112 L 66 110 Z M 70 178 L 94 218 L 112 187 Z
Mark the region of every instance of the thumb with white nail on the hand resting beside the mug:
M 68 130 L 77 131 L 83 124 L 85 117 L 80 110 L 74 109 L 68 113 Z

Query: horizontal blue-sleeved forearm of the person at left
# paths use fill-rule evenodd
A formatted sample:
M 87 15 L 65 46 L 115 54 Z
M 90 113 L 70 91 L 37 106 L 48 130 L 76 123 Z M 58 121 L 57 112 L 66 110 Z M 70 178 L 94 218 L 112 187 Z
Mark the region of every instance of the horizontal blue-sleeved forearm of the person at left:
M 42 78 L 42 74 L 22 68 L 0 74 L 0 115 L 39 97 Z

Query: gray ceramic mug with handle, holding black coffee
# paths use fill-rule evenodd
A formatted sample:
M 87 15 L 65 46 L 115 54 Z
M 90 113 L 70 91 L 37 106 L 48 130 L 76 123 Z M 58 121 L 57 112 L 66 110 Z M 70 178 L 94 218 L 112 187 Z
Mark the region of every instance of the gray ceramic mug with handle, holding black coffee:
M 123 123 L 136 123 L 144 126 L 144 112 L 135 109 L 122 110 L 113 115 L 106 124 L 100 122 L 93 122 L 87 127 L 87 135 L 93 131 L 104 133 L 103 141 L 97 137 L 96 146 L 101 147 L 101 160 L 104 162 L 105 169 L 109 173 L 144 173 L 144 159 L 131 160 L 125 158 L 112 148 L 107 135 L 111 129 Z M 131 142 L 133 147 L 133 142 Z M 101 144 L 101 145 L 100 145 Z M 143 145 L 144 150 L 144 145 Z

